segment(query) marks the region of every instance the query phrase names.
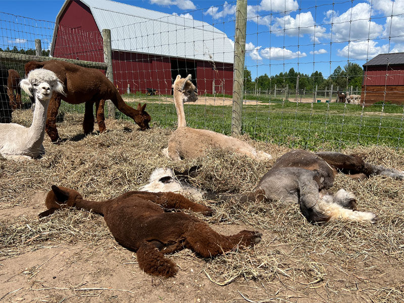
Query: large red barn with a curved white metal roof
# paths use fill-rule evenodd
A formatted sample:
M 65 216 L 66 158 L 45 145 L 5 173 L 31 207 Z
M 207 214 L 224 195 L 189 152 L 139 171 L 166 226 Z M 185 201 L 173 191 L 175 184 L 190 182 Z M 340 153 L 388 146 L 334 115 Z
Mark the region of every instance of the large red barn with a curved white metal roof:
M 51 55 L 104 62 L 102 30 L 111 30 L 114 84 L 121 93 L 171 93 L 191 74 L 199 94 L 233 89 L 233 45 L 212 25 L 110 0 L 66 0 Z

